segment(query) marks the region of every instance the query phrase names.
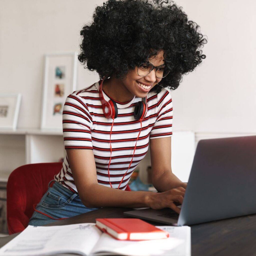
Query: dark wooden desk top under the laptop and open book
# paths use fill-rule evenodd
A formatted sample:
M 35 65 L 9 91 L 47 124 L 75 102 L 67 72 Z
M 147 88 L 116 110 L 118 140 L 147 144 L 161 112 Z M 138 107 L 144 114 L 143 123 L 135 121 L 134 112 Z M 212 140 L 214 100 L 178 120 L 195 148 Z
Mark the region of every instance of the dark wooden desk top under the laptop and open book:
M 130 208 L 105 207 L 47 226 L 76 223 L 95 223 L 95 218 L 124 218 L 124 211 Z M 164 225 L 150 222 L 153 225 Z M 19 234 L 19 233 L 17 233 Z M 0 238 L 0 247 L 12 240 L 17 234 Z M 191 226 L 192 256 L 252 256 L 256 255 L 256 214 L 212 221 Z

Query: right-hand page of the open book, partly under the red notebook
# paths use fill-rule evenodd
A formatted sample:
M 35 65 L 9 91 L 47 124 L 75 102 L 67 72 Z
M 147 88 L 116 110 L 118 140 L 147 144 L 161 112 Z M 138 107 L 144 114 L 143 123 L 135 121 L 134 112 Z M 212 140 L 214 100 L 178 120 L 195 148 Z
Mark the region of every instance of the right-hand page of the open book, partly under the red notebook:
M 91 255 L 111 252 L 131 256 L 190 256 L 190 227 L 156 226 L 169 232 L 169 238 L 148 241 L 120 241 L 103 233 L 93 248 Z

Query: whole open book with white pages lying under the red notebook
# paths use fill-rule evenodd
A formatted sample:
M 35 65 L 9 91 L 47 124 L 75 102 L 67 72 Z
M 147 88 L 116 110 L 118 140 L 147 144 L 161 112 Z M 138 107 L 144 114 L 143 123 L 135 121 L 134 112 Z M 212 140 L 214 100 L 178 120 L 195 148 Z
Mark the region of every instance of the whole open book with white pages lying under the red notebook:
M 95 223 L 64 226 L 28 226 L 0 249 L 0 256 L 39 255 L 168 255 L 190 256 L 190 227 L 157 226 L 169 238 L 120 241 L 100 231 Z

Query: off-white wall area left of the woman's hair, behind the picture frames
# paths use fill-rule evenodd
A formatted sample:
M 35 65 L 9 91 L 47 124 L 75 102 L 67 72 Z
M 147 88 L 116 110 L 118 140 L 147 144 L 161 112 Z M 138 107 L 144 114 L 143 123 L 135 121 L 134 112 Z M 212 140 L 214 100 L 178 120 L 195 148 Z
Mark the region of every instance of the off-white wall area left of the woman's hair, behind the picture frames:
M 78 51 L 80 30 L 102 3 L 0 0 L 0 93 L 22 93 L 17 128 L 40 127 L 44 54 Z M 78 88 L 98 81 L 96 72 L 78 66 Z

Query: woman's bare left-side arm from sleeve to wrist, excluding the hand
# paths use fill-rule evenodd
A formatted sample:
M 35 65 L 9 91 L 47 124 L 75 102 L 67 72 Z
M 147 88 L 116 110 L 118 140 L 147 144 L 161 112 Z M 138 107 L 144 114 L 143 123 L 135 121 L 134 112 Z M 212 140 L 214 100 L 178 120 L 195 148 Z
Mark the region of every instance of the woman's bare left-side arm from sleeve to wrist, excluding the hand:
M 147 192 L 123 191 L 98 184 L 92 150 L 67 150 L 74 182 L 83 204 L 89 208 L 147 207 Z

